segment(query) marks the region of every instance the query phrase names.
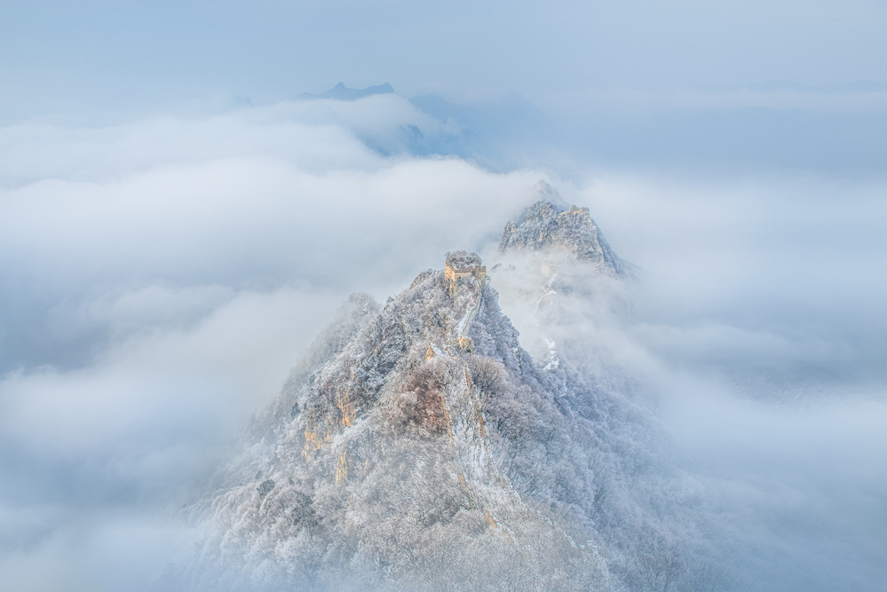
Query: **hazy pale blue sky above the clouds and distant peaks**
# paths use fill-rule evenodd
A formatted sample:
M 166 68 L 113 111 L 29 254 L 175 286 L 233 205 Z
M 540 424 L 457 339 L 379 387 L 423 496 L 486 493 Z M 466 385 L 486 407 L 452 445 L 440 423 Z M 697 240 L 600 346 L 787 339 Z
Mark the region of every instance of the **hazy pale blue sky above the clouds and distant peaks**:
M 4 3 L 4 110 L 257 102 L 345 81 L 407 96 L 887 84 L 879 2 Z

